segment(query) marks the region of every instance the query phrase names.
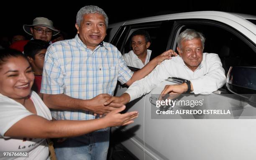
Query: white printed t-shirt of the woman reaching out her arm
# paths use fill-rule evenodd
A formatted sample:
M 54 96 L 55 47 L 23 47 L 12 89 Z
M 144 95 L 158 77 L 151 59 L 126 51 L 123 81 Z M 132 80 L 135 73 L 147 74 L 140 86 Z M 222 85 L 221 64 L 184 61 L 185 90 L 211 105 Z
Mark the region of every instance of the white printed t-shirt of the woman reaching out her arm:
M 51 120 L 51 112 L 36 92 L 31 92 L 30 99 L 36 107 L 38 116 Z M 5 132 L 20 119 L 32 115 L 23 105 L 0 94 L 0 151 L 28 152 L 29 157 L 18 160 L 49 160 L 49 148 L 46 139 L 17 138 L 4 136 Z M 0 160 L 14 160 L 15 158 L 0 155 Z

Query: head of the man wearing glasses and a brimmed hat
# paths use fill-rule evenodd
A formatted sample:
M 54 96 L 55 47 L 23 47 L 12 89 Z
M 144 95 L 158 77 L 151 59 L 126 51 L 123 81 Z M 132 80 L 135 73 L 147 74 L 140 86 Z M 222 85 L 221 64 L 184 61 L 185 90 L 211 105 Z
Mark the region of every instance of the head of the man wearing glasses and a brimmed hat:
M 23 25 L 23 29 L 26 33 L 33 36 L 32 39 L 41 39 L 49 42 L 49 44 L 52 44 L 51 37 L 60 32 L 54 28 L 51 20 L 44 17 L 35 18 L 32 25 Z

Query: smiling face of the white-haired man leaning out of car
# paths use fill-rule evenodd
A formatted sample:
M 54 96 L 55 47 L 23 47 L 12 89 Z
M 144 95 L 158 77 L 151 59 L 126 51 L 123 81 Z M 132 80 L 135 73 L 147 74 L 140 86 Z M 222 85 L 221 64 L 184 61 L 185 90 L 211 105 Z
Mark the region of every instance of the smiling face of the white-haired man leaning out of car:
M 182 40 L 181 48 L 177 47 L 177 50 L 186 66 L 192 71 L 195 71 L 202 62 L 203 46 L 200 38 Z

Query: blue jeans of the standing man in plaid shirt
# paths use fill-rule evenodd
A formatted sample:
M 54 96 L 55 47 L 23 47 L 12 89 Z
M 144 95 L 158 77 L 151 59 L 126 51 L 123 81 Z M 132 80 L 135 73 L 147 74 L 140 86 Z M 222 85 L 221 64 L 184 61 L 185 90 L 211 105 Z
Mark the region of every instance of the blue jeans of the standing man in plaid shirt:
M 109 130 L 105 128 L 79 137 L 54 142 L 57 160 L 106 160 Z

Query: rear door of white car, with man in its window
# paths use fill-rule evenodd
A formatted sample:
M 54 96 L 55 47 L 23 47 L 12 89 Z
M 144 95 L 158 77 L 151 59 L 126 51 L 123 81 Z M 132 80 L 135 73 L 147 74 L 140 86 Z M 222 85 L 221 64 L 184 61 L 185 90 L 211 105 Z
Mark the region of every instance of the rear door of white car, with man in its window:
M 159 21 L 153 23 L 140 23 L 135 25 L 124 25 L 119 29 L 119 32 L 116 33 L 116 36 L 111 41 L 112 44 L 117 46 L 119 51 L 124 54 L 128 53 L 131 50 L 130 41 L 131 33 L 138 29 L 147 30 L 151 36 L 151 46 L 148 48 L 152 50 L 151 58 L 158 56 L 160 53 L 166 51 L 168 39 L 171 33 L 171 30 L 166 32 L 166 28 L 172 28 L 173 22 L 169 23 L 168 21 Z M 131 67 L 130 67 L 131 68 Z M 131 68 L 136 71 L 138 69 Z M 128 86 L 117 84 L 115 96 L 120 96 L 126 91 Z M 145 97 L 140 97 L 133 102 L 126 104 L 127 111 L 138 111 L 139 117 L 134 121 L 133 124 L 129 124 L 125 127 L 115 127 L 113 132 L 122 131 L 121 143 L 128 148 L 130 152 L 133 153 L 138 159 L 144 159 L 144 150 L 145 150 L 145 132 L 144 132 L 144 111 L 145 111 Z

